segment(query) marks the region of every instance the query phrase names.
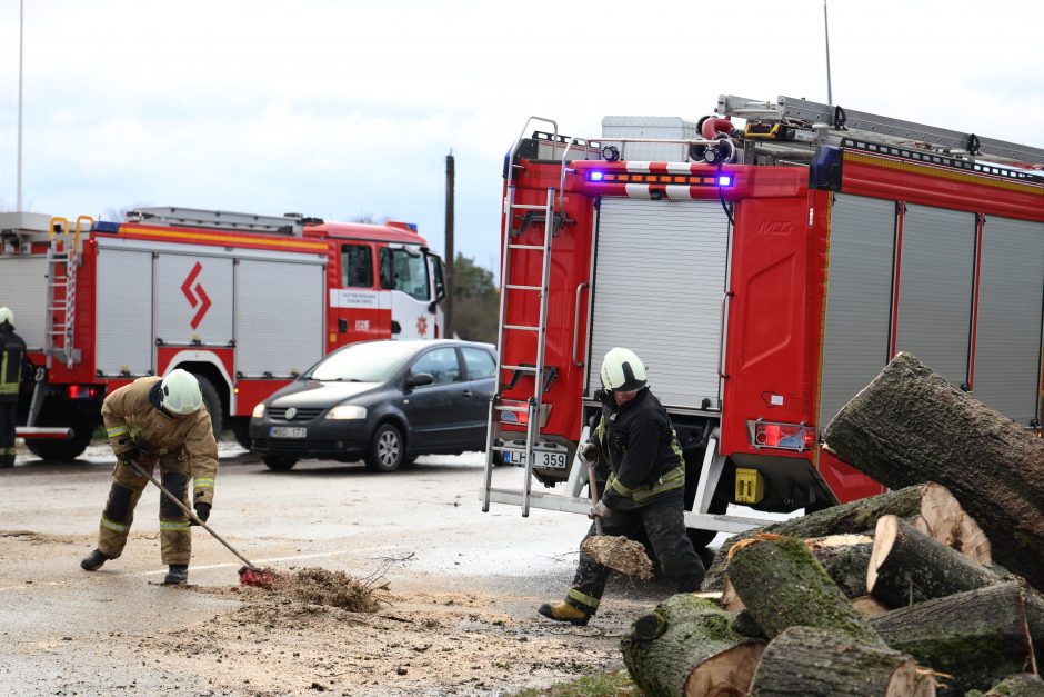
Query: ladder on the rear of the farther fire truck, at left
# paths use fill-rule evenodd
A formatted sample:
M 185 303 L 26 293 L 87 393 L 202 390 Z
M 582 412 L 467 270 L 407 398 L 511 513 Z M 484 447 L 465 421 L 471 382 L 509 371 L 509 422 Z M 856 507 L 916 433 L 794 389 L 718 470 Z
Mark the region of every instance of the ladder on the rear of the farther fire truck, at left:
M 50 222 L 50 247 L 47 250 L 47 328 L 43 338 L 47 367 L 57 358 L 72 368 L 80 362 L 80 349 L 76 348 L 77 268 L 80 266 L 80 233 L 83 223 L 90 230 L 94 220 L 89 216 L 77 218 L 72 243 L 69 240 L 69 221 L 52 218 Z M 60 233 L 60 236 L 59 236 Z

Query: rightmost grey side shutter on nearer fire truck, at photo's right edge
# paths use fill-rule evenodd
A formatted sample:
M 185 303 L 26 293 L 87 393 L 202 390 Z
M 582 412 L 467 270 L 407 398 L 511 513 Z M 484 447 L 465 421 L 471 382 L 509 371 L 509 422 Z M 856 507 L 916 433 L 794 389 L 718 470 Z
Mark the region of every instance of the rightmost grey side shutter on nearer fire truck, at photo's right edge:
M 975 397 L 1023 426 L 1036 418 L 1044 317 L 1044 223 L 986 216 Z

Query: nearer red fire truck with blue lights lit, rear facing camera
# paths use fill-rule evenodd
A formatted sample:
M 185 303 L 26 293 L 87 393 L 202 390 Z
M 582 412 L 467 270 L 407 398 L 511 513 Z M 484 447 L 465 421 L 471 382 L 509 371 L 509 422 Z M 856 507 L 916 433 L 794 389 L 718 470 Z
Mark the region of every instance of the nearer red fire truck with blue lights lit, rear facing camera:
M 897 351 L 1040 428 L 1044 150 L 789 97 L 606 117 L 596 141 L 532 121 L 503 172 L 484 510 L 589 510 L 574 454 L 614 346 L 672 415 L 702 544 L 764 524 L 729 504 L 880 492 L 821 434 Z

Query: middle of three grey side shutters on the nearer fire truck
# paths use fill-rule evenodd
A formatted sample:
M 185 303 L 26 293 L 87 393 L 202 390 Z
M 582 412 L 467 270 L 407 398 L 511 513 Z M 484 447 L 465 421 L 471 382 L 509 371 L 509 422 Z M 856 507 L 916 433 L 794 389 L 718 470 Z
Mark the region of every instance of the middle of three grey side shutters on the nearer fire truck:
M 955 386 L 968 374 L 975 213 L 907 205 L 903 217 L 896 351 Z

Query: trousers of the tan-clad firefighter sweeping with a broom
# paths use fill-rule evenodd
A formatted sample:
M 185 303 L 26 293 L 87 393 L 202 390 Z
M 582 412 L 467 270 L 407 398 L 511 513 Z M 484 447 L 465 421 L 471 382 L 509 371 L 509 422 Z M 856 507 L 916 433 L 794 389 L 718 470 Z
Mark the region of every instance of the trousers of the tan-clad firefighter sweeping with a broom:
M 147 460 L 140 465 L 144 471 L 152 474 L 153 462 Z M 188 459 L 178 458 L 177 455 L 163 456 L 160 458 L 160 476 L 163 486 L 188 506 Z M 101 515 L 98 532 L 98 549 L 106 556 L 114 559 L 123 554 L 127 536 L 134 520 L 134 507 L 148 485 L 147 477 L 134 472 L 123 460 L 117 460 L 116 469 L 112 470 L 109 500 Z M 160 554 L 167 565 L 188 565 L 192 557 L 189 517 L 163 494 L 160 494 Z

